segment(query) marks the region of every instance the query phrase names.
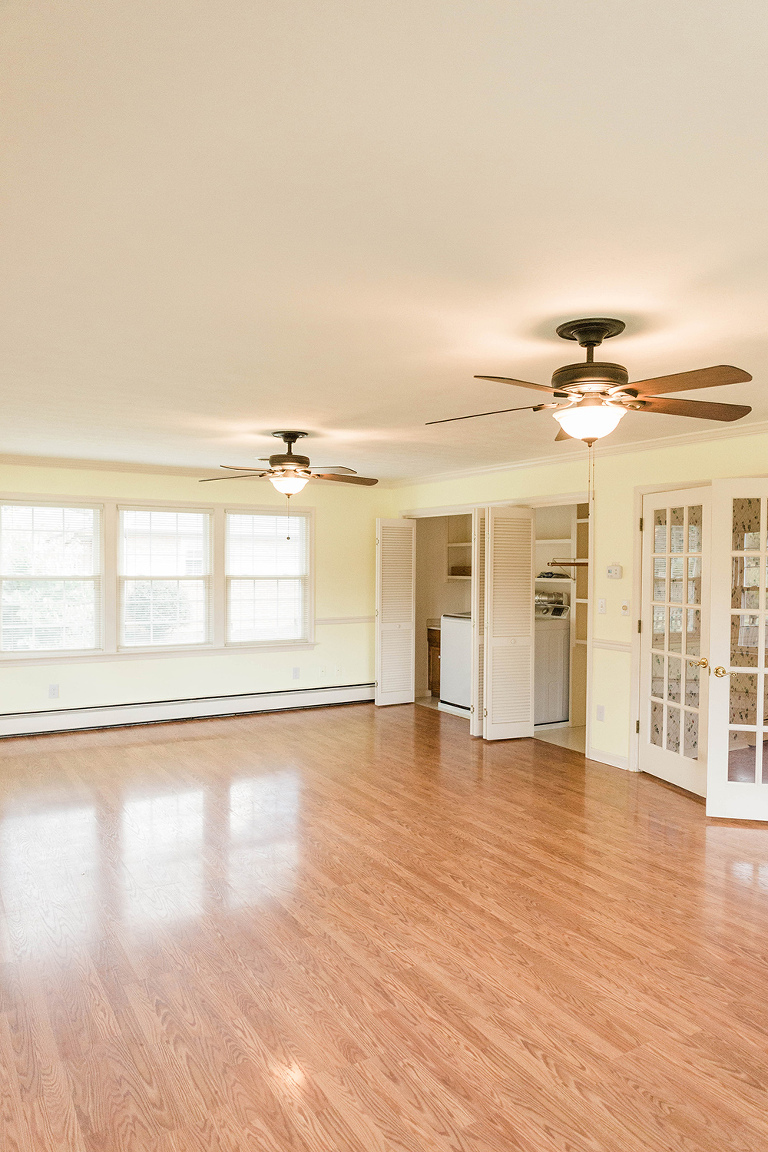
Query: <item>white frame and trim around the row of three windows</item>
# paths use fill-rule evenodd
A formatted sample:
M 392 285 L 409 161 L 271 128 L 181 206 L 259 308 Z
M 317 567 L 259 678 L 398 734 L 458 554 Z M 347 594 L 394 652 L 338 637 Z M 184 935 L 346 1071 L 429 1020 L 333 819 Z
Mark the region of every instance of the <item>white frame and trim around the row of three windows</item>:
M 99 649 L 69 650 L 56 649 L 51 652 L 0 652 L 0 667 L 7 668 L 24 665 L 56 665 L 56 664 L 92 664 L 94 661 L 114 660 L 164 660 L 180 655 L 205 657 L 212 654 L 235 653 L 235 652 L 291 652 L 302 649 L 309 650 L 315 646 L 314 639 L 314 508 L 305 506 L 294 507 L 292 513 L 306 514 L 309 518 L 310 532 L 310 575 L 309 586 L 309 639 L 281 642 L 272 644 L 265 641 L 256 643 L 249 641 L 227 644 L 227 584 L 225 576 L 226 562 L 226 513 L 266 513 L 267 515 L 284 515 L 282 507 L 275 505 L 234 505 L 234 503 L 200 503 L 199 501 L 184 500 L 126 500 L 126 499 L 99 499 L 86 500 L 82 495 L 30 495 L 29 492 L 0 492 L 0 501 L 3 503 L 31 505 L 37 507 L 52 508 L 98 508 L 101 514 L 101 597 L 100 597 L 100 638 Z M 207 511 L 212 515 L 212 641 L 208 644 L 197 645 L 164 645 L 162 647 L 120 647 L 119 646 L 119 576 L 117 576 L 117 548 L 120 546 L 120 508 L 145 508 L 149 510 L 168 509 L 170 511 Z

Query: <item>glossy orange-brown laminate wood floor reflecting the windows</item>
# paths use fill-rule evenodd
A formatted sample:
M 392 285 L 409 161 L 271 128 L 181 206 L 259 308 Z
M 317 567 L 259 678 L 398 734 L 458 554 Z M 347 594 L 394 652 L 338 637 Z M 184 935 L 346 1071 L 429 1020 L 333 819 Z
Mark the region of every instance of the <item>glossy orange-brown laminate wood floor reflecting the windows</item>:
M 768 828 L 358 705 L 0 742 L 3 1152 L 766 1152 Z

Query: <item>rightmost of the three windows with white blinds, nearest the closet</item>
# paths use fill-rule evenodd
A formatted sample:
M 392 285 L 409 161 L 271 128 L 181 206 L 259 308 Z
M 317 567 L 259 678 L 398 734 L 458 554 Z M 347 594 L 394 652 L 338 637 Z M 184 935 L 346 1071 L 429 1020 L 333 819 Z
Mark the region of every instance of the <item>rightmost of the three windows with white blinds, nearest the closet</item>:
M 309 514 L 227 513 L 226 571 L 228 643 L 311 638 Z

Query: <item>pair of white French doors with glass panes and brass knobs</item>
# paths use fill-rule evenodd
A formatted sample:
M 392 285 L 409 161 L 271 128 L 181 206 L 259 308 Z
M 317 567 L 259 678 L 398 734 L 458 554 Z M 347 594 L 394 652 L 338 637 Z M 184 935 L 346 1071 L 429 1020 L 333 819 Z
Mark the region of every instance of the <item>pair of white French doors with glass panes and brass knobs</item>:
M 642 501 L 639 767 L 768 820 L 768 479 Z

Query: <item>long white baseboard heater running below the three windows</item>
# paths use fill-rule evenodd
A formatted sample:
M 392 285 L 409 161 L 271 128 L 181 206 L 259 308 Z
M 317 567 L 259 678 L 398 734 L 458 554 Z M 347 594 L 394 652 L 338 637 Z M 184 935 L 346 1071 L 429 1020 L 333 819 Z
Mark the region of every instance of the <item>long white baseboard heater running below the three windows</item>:
M 146 704 L 109 704 L 93 708 L 13 712 L 0 714 L 0 737 L 39 736 L 48 732 L 122 728 L 169 720 L 203 720 L 208 717 L 246 715 L 252 712 L 357 704 L 362 700 L 372 700 L 373 689 L 373 684 L 343 684 L 291 689 L 284 692 L 246 692 L 238 696 L 201 696 L 187 700 L 153 700 Z

